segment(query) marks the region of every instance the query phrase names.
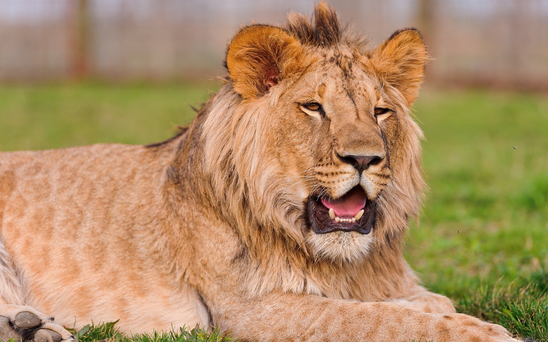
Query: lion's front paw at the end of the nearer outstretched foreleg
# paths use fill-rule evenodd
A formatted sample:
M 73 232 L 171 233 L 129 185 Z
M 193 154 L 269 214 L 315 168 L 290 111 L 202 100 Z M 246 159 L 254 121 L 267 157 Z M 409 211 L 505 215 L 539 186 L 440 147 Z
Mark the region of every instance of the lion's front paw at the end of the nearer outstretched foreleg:
M 451 342 L 510 342 L 519 341 L 499 324 L 479 320 L 464 314 L 437 315 L 436 340 Z

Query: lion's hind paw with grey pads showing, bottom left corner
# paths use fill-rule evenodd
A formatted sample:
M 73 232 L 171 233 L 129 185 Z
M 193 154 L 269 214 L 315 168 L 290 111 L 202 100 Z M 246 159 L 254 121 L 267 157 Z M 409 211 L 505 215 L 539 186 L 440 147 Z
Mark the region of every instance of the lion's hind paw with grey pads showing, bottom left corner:
M 31 306 L 0 303 L 0 340 L 34 342 L 73 341 L 74 336 L 55 323 L 53 317 Z

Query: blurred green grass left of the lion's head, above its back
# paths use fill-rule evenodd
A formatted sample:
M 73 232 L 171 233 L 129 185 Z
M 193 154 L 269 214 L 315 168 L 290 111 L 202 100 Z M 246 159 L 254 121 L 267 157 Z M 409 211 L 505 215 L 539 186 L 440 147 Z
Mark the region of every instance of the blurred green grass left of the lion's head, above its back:
M 0 150 L 146 143 L 190 123 L 215 82 L 0 86 Z

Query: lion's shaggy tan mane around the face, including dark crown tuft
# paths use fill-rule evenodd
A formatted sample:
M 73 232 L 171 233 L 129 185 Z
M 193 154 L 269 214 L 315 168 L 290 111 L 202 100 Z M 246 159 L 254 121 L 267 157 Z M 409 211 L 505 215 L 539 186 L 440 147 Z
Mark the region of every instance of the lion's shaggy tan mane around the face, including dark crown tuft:
M 288 15 L 284 30 L 313 49 L 364 50 L 367 40 L 341 26 L 335 11 L 319 3 L 311 18 Z M 272 96 L 245 101 L 225 78 L 220 90 L 199 111 L 182 137 L 179 179 L 217 210 L 212 215 L 238 237 L 232 262 L 248 273 L 243 286 L 258 295 L 276 288 L 284 292 L 313 293 L 335 298 L 387 298 L 387 289 L 399 291 L 405 284 L 391 277 L 408 274 L 401 256 L 401 240 L 409 217 L 420 210 L 425 187 L 420 167 L 421 131 L 408 116 L 399 121 L 398 141 L 405 151 L 391 154 L 395 174 L 380 194 L 374 250 L 368 262 L 333 262 L 318 257 L 306 243 L 303 227 L 305 205 L 296 194 L 293 179 L 284 177 L 266 150 L 269 115 L 258 103 L 276 105 L 283 89 Z M 401 112 L 409 112 L 401 92 L 385 85 Z M 393 157 L 393 158 L 392 158 Z M 170 170 L 174 170 L 173 168 Z M 222 215 L 221 215 L 222 213 Z M 352 259 L 354 261 L 358 259 Z M 375 281 L 364 281 L 375 279 Z M 409 279 L 409 278 L 407 278 Z M 379 286 L 379 283 L 381 286 Z

